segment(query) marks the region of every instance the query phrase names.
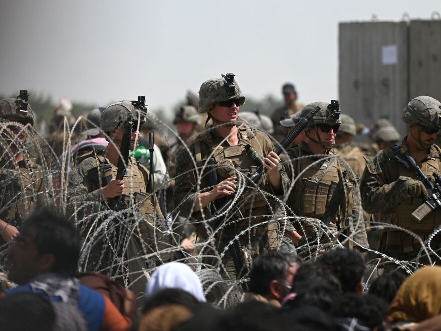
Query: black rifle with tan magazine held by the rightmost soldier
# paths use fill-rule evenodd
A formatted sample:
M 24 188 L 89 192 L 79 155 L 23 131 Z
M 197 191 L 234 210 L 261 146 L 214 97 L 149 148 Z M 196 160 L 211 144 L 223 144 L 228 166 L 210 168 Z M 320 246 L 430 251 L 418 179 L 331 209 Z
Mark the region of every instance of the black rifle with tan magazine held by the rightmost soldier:
M 407 150 L 404 153 L 400 153 L 399 146 L 393 146 L 392 150 L 395 153 L 391 158 L 404 164 L 404 167 L 407 169 L 411 168 L 427 190 L 428 199 L 411 214 L 416 221 L 421 222 L 432 210 L 441 207 L 441 176 L 433 173 L 434 181 L 428 179 Z

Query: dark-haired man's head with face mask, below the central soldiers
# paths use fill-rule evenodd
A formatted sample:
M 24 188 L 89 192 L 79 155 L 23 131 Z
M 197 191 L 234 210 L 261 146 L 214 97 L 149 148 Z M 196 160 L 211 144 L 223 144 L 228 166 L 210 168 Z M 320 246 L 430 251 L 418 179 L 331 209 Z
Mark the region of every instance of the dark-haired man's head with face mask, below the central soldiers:
M 278 251 L 257 257 L 250 271 L 250 292 L 282 301 L 300 264 L 297 256 Z

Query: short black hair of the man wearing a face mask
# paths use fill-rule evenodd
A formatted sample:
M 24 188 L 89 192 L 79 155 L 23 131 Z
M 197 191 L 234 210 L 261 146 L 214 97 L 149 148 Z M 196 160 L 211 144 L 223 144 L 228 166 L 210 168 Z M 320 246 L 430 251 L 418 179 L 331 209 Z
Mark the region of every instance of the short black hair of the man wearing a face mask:
M 250 270 L 250 292 L 267 295 L 272 280 L 285 280 L 290 264 L 301 264 L 302 260 L 291 253 L 270 251 L 253 260 Z

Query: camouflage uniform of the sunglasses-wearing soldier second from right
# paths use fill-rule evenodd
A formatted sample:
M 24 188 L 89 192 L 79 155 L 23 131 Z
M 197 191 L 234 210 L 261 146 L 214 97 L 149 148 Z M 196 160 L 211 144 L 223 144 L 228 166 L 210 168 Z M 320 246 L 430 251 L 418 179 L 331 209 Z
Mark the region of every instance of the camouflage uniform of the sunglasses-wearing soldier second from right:
M 320 111 L 313 117 L 309 127 L 315 126 L 317 130 L 317 124 L 334 125 L 340 123 L 340 119 L 331 116 L 330 111 L 327 109 L 328 104 L 325 102 L 314 102 L 306 105 L 299 118 L 305 117 L 317 106 L 320 107 Z M 309 139 L 314 141 L 311 137 Z M 316 141 L 321 143 L 320 140 Z M 334 155 L 330 151 L 331 146 L 326 145 L 326 148 L 329 148 L 327 150 L 330 156 Z M 315 156 L 311 153 L 308 144 L 305 142 L 288 148 L 285 162 L 288 176 L 290 176 L 291 180 L 296 179 L 294 188 L 287 199 L 287 205 L 295 215 L 308 218 L 321 219 L 337 183 L 342 177 L 342 172 L 344 170 L 348 171 L 344 182 L 346 197 L 343 199 L 340 210 L 334 220 L 331 221 L 329 227 L 334 233 L 342 231 L 346 236 L 350 237 L 354 243 L 349 241 L 349 247 L 353 245 L 368 247 L 363 218 L 360 218 L 360 208 L 357 207 L 360 203 L 354 188 L 358 177 L 353 177 L 349 169 L 337 157 L 323 159 L 322 156 Z M 298 176 L 300 177 L 298 178 Z M 311 225 L 303 224 L 302 226 L 303 230 L 300 225 L 295 224 L 295 227 L 297 230 L 300 230 L 302 235 L 308 237 L 315 235 L 315 230 Z M 292 230 L 294 230 L 292 227 L 287 227 L 286 229 L 287 232 Z

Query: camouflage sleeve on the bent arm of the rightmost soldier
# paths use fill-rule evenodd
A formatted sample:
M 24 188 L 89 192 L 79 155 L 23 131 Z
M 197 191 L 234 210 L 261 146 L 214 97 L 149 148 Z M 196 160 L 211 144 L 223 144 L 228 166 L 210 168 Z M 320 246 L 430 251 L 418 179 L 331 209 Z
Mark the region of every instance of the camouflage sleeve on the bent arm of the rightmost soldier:
M 399 177 L 392 183 L 387 183 L 382 167 L 390 155 L 387 150 L 381 150 L 374 160 L 368 160 L 360 183 L 363 208 L 368 213 L 385 212 L 408 199 L 408 177 Z

